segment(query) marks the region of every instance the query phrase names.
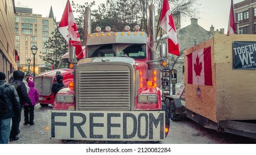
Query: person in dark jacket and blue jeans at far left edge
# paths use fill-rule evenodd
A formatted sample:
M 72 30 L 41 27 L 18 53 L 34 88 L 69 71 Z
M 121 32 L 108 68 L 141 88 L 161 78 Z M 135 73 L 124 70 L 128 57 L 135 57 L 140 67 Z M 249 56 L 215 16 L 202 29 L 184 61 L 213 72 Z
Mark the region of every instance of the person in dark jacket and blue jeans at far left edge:
M 11 133 L 11 118 L 21 111 L 19 96 L 14 86 L 6 83 L 6 74 L 0 72 L 0 144 L 7 144 Z

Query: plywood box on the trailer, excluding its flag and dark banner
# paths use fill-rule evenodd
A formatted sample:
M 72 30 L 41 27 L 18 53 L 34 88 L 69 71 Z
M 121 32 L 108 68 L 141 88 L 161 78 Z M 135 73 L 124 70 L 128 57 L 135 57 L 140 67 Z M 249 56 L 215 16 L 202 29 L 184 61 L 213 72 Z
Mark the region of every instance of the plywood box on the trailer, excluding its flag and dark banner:
M 233 70 L 232 43 L 240 41 L 256 42 L 256 35 L 218 34 L 185 50 L 185 92 L 188 110 L 214 122 L 256 120 L 256 70 Z M 208 46 L 211 46 L 212 86 L 188 84 L 186 55 Z M 197 97 L 198 86 L 201 89 L 201 97 Z

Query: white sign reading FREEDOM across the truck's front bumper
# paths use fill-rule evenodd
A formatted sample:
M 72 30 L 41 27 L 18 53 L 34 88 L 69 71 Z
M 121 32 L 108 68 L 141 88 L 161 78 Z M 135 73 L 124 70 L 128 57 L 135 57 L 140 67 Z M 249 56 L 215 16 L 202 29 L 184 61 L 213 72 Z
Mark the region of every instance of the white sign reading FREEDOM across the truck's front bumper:
M 60 111 L 48 113 L 52 139 L 161 141 L 165 139 L 163 111 Z

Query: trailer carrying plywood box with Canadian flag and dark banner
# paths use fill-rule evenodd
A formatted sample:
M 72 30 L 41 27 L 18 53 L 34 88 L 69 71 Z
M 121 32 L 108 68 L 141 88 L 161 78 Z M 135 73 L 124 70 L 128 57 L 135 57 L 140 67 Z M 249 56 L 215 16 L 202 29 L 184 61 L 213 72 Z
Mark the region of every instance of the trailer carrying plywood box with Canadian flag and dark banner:
M 217 132 L 256 138 L 255 40 L 252 34 L 218 34 L 186 49 L 180 90 L 163 100 L 171 120 L 185 115 Z M 197 55 L 205 49 L 211 60 L 208 69 L 206 58 Z

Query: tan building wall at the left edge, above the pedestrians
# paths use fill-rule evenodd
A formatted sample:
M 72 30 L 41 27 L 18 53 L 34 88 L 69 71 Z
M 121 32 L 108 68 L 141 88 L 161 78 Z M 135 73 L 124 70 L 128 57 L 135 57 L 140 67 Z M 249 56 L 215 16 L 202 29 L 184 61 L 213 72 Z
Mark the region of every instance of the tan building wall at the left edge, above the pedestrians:
M 6 73 L 6 79 L 13 69 L 17 69 L 15 60 L 14 1 L 0 1 L 0 71 Z

